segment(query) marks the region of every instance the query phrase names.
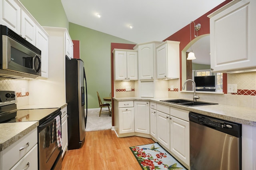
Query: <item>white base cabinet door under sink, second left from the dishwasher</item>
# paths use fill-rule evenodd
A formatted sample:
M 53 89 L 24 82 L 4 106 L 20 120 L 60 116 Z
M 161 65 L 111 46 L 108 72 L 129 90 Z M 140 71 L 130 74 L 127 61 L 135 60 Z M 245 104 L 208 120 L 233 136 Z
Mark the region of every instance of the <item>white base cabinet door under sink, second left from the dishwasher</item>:
M 156 112 L 157 140 L 167 149 L 170 149 L 170 115 Z

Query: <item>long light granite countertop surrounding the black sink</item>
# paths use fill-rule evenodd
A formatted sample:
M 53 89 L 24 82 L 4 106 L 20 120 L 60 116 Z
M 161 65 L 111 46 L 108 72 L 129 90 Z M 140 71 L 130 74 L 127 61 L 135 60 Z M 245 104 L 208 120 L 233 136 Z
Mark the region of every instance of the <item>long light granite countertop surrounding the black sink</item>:
M 175 99 L 175 98 L 154 99 L 154 98 L 136 98 L 136 97 L 113 97 L 113 100 L 116 100 L 116 101 L 131 101 L 131 100 L 132 101 L 151 101 L 151 102 L 159 103 L 162 105 L 183 109 L 186 111 L 192 111 L 192 112 L 199 113 L 206 116 L 224 119 L 226 121 L 236 122 L 244 125 L 256 126 L 256 109 L 222 105 L 222 104 L 187 107 L 187 106 L 160 101 L 165 99 Z

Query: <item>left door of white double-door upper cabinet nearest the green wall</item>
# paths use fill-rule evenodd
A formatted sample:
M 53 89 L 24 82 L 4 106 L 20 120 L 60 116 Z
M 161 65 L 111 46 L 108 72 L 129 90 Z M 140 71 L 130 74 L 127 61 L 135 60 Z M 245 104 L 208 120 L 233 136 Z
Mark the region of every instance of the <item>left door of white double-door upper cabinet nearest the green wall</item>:
M 127 80 L 126 51 L 114 52 L 114 77 L 115 80 Z

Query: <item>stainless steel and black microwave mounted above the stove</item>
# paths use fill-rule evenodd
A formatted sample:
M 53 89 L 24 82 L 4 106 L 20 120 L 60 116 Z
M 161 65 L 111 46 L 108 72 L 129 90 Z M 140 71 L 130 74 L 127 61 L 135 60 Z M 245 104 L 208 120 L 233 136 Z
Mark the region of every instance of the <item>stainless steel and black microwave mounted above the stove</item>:
M 0 25 L 0 76 L 35 79 L 41 76 L 41 50 Z

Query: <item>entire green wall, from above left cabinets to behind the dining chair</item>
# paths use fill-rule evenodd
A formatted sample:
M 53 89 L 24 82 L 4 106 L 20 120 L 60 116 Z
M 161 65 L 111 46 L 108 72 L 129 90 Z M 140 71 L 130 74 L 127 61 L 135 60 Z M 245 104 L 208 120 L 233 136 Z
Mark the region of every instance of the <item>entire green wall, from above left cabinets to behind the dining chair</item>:
M 68 22 L 60 0 L 20 2 L 41 26 L 67 28 L 71 39 L 80 41 L 80 58 L 84 61 L 88 86 L 88 109 L 99 108 L 96 91 L 101 98 L 108 97 L 111 92 L 111 43 L 135 43 Z

